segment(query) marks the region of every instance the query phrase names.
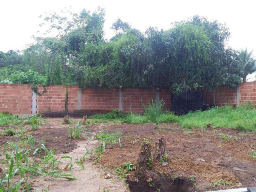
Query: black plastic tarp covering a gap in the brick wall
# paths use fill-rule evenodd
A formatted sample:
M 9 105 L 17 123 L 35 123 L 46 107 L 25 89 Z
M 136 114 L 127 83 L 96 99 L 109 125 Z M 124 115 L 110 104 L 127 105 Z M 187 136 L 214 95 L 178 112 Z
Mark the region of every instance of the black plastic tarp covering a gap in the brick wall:
M 204 94 L 202 91 L 187 92 L 182 95 L 172 95 L 172 111 L 176 114 L 187 114 L 190 111 L 202 110 Z

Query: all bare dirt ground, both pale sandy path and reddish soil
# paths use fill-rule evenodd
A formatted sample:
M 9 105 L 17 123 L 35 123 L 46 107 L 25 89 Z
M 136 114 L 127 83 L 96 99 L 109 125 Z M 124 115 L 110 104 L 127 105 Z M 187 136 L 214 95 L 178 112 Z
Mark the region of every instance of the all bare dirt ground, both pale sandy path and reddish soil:
M 76 119 L 79 121 L 79 119 Z M 136 165 L 142 140 L 154 142 L 161 137 L 166 139 L 168 166 L 163 167 L 159 162 L 153 162 L 153 170 L 174 176 L 194 178 L 194 189 L 197 191 L 217 190 L 225 188 L 241 188 L 256 186 L 256 159 L 252 159 L 250 150 L 255 148 L 255 132 L 238 132 L 236 130 L 212 128 L 206 130 L 184 130 L 178 124 L 130 125 L 130 124 L 94 124 L 85 132 L 86 139 L 70 140 L 67 136 L 67 126 L 62 119 L 48 119 L 47 124 L 30 134 L 38 141 L 44 141 L 47 148 L 54 148 L 57 156 L 69 155 L 77 159 L 83 156 L 85 147 L 91 150 L 98 145 L 90 138 L 100 130 L 119 132 L 123 134 L 122 147 L 107 149 L 98 164 L 86 160 L 85 170 L 74 166 L 71 173 L 78 181 L 53 179 L 44 181 L 43 178 L 33 179 L 32 186 L 41 192 L 46 186 L 49 191 L 100 192 L 128 191 L 126 185 L 112 174 L 111 179 L 104 179 L 104 172 L 122 167 L 124 162 Z M 232 136 L 224 140 L 221 134 Z M 1 136 L 0 143 L 14 140 L 12 137 Z M 63 162 L 65 166 L 66 162 Z M 112 172 L 113 173 L 113 172 Z M 219 182 L 218 181 L 222 181 Z M 223 183 L 225 182 L 225 184 Z M 144 190 L 156 191 L 156 190 Z M 139 192 L 139 191 L 138 191 Z

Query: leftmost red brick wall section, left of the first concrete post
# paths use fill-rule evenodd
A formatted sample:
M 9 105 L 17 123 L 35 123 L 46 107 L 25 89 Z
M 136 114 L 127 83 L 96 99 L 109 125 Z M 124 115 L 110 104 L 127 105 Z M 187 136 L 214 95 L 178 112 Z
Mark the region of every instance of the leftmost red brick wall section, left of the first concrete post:
M 32 85 L 0 84 L 0 112 L 31 114 Z

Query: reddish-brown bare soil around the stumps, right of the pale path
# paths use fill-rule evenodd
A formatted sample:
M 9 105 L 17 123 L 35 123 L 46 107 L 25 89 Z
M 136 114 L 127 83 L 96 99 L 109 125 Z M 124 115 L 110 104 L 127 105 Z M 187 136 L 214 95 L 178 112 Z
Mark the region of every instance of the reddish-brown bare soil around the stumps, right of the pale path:
M 154 127 L 153 124 L 101 126 L 100 130 L 120 132 L 124 138 L 122 147 L 107 150 L 100 163 L 109 168 L 128 161 L 136 164 L 143 138 L 154 146 L 156 140 L 164 137 L 168 166 L 154 161 L 153 169 L 177 178 L 193 178 L 197 191 L 256 186 L 256 159 L 250 154 L 255 147 L 256 133 L 226 129 L 184 130 L 178 124 Z M 90 129 L 98 130 L 99 127 Z M 229 134 L 232 138 L 225 142 L 218 134 Z M 226 183 L 218 184 L 218 181 Z

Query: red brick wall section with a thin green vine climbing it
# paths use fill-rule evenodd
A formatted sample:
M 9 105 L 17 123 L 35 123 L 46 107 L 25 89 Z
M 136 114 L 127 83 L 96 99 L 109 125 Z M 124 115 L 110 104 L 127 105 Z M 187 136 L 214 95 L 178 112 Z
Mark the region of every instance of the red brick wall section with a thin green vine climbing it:
M 50 85 L 43 87 L 38 85 L 38 91 L 43 93 L 37 96 L 37 112 L 65 111 L 66 91 L 68 91 L 68 110 L 73 111 L 77 107 L 78 86 Z

